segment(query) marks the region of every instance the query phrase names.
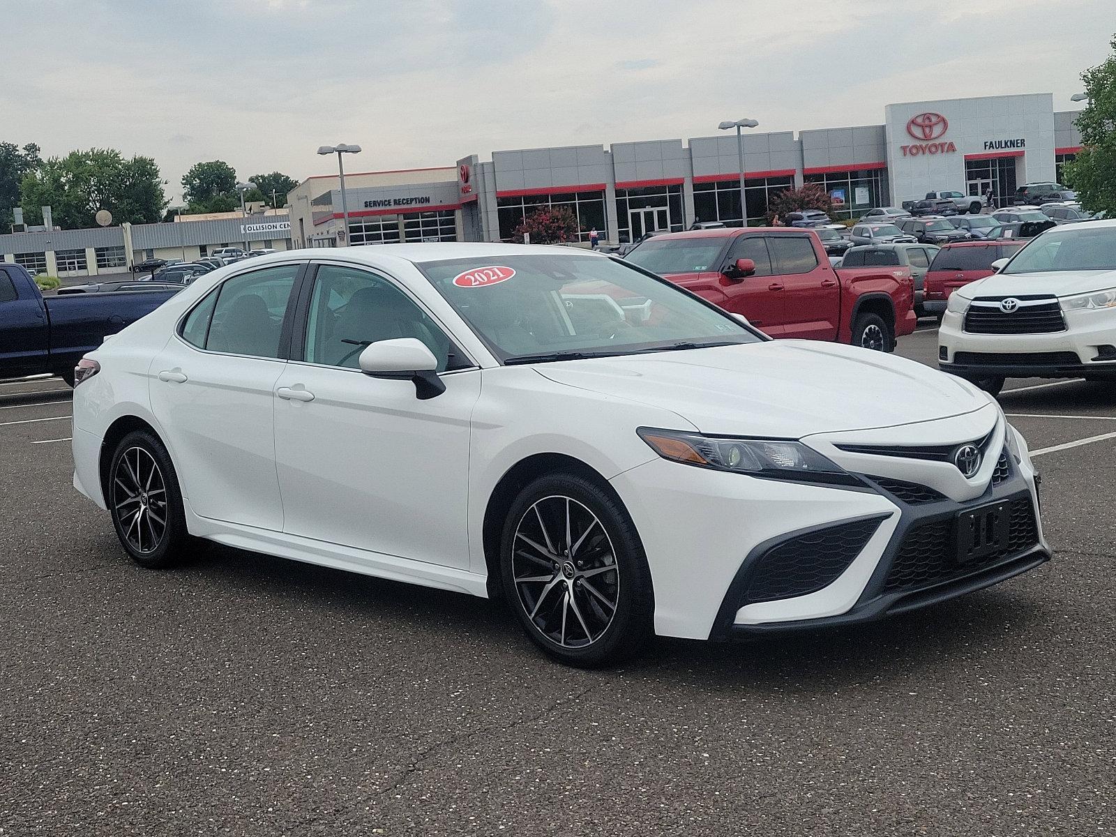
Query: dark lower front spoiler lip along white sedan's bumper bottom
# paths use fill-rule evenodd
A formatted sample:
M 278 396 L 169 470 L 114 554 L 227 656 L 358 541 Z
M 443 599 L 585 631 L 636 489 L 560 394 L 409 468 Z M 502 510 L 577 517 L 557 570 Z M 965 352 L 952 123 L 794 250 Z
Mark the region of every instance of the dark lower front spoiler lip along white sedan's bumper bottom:
M 763 636 L 786 635 L 802 631 L 814 631 L 818 628 L 833 628 L 841 625 L 856 625 L 865 622 L 875 622 L 886 616 L 917 610 L 922 607 L 947 602 L 951 598 L 963 596 L 966 593 L 991 587 L 992 585 L 1006 581 L 1014 576 L 1028 573 L 1050 560 L 1050 554 L 1042 547 L 1036 545 L 1024 552 L 1008 558 L 1007 560 L 988 567 L 979 573 L 969 576 L 952 578 L 931 587 L 923 587 L 917 590 L 898 590 L 896 593 L 878 596 L 869 602 L 854 607 L 848 613 L 838 616 L 826 616 L 819 619 L 798 619 L 793 622 L 768 622 L 758 625 L 728 625 L 720 629 L 714 629 L 710 634 L 711 641 L 730 639 L 757 639 Z

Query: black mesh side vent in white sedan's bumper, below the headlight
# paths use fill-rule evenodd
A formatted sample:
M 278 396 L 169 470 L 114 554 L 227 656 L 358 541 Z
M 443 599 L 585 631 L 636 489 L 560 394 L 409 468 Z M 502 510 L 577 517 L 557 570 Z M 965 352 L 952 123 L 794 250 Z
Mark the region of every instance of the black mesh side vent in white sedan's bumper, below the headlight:
M 833 584 L 860 554 L 882 520 L 840 523 L 779 543 L 757 560 L 740 604 L 805 596 Z

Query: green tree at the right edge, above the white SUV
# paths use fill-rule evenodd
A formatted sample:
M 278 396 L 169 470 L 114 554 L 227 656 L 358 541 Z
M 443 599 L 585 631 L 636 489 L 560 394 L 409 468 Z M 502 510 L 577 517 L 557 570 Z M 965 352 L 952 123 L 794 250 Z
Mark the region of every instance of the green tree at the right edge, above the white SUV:
M 1113 55 L 1081 74 L 1089 97 L 1077 117 L 1081 151 L 1062 169 L 1085 209 L 1109 218 L 1116 217 L 1116 36 L 1112 47 Z

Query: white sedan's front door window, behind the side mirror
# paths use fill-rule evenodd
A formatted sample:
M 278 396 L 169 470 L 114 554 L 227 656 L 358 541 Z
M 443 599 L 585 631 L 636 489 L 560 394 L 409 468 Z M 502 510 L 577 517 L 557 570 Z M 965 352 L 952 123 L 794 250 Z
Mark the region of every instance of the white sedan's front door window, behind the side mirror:
M 318 268 L 306 323 L 307 363 L 357 369 L 366 346 L 401 337 L 422 340 L 437 358 L 437 372 L 469 365 L 439 325 L 384 277 L 335 264 Z

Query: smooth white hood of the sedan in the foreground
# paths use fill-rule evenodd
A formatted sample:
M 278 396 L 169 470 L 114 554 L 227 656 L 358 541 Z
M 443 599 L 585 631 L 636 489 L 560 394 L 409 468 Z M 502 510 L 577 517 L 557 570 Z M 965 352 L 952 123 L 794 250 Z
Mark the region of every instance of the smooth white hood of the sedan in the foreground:
M 988 396 L 881 352 L 811 340 L 545 364 L 559 384 L 672 411 L 703 433 L 801 439 L 971 413 Z

